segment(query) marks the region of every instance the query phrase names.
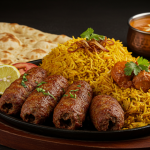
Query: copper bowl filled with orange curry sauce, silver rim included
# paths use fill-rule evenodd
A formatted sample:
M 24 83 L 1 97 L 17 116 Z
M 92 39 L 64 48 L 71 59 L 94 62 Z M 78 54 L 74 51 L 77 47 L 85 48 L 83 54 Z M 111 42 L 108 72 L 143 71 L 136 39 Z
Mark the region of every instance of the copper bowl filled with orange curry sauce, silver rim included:
M 150 57 L 150 12 L 132 16 L 128 25 L 128 47 L 138 55 Z

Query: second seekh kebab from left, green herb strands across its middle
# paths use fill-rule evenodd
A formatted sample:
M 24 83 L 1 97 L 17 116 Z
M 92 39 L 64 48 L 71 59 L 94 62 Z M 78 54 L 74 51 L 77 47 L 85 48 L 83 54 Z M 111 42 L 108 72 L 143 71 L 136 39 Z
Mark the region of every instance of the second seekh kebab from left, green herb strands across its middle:
M 67 79 L 60 75 L 48 76 L 43 83 L 22 106 L 20 116 L 26 122 L 44 123 L 68 87 Z

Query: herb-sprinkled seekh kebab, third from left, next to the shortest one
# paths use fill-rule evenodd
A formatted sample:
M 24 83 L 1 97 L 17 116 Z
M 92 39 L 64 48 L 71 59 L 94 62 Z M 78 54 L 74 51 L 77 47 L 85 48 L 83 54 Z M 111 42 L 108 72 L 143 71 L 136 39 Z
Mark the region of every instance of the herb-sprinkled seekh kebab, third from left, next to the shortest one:
M 92 88 L 87 82 L 76 81 L 71 84 L 54 109 L 55 127 L 70 130 L 82 127 L 92 95 Z

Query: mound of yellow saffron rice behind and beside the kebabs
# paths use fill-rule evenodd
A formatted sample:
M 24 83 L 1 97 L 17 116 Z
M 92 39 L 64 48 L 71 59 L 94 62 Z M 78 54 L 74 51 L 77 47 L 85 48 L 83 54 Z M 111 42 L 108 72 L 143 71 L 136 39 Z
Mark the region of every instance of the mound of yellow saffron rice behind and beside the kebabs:
M 144 93 L 134 88 L 121 89 L 111 77 L 111 69 L 118 61 L 136 61 L 132 53 L 118 40 L 114 45 L 106 45 L 109 52 L 93 52 L 90 55 L 84 49 L 69 53 L 69 50 L 78 48 L 77 41 L 82 38 L 71 39 L 64 44 L 59 44 L 42 60 L 41 67 L 49 75 L 63 75 L 69 83 L 77 80 L 87 81 L 95 95 L 107 94 L 118 100 L 125 111 L 125 124 L 123 129 L 132 129 L 150 124 L 150 90 Z M 73 44 L 73 45 L 72 45 Z

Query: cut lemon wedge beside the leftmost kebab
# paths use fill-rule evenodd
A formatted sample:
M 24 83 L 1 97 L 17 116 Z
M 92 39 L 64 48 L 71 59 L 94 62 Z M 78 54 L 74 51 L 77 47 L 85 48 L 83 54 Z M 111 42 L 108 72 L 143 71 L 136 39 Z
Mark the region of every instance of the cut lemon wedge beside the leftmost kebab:
M 0 95 L 10 84 L 20 77 L 19 70 L 11 65 L 0 65 Z

